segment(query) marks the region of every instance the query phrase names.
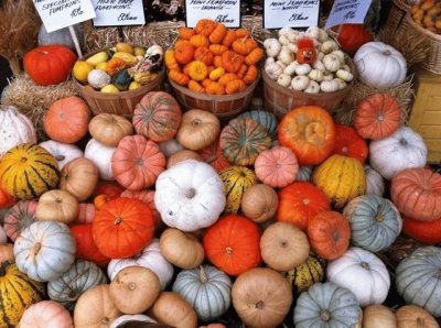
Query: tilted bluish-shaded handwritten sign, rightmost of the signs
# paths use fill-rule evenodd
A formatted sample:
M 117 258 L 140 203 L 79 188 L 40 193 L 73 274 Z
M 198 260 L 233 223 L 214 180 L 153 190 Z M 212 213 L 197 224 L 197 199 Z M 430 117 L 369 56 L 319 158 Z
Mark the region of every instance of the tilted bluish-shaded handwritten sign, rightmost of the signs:
M 324 28 L 340 24 L 362 24 L 370 7 L 370 0 L 335 0 Z

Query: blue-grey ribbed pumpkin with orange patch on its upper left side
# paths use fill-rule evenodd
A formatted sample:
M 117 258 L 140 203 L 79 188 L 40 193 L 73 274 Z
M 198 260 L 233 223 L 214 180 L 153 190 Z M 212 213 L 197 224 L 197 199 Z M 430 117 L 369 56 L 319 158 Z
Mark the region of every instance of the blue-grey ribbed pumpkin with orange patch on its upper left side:
M 391 245 L 401 232 L 398 209 L 390 200 L 376 195 L 352 199 L 343 215 L 351 225 L 352 243 L 374 253 Z

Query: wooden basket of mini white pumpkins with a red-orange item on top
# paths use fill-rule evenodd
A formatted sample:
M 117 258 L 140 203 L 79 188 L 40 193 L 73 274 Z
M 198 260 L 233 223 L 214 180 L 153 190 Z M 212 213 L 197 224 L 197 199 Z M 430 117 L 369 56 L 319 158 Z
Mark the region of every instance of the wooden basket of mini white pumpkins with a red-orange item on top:
M 299 106 L 321 106 L 333 112 L 351 90 L 355 66 L 330 34 L 318 26 L 306 31 L 283 28 L 278 39 L 263 41 L 265 102 L 281 118 Z

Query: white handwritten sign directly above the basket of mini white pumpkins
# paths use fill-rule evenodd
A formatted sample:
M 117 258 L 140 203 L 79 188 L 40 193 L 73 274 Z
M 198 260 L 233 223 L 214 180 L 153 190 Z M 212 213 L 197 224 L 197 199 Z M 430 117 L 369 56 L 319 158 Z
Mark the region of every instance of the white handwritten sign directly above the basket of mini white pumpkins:
M 316 26 L 320 0 L 265 0 L 263 28 Z

